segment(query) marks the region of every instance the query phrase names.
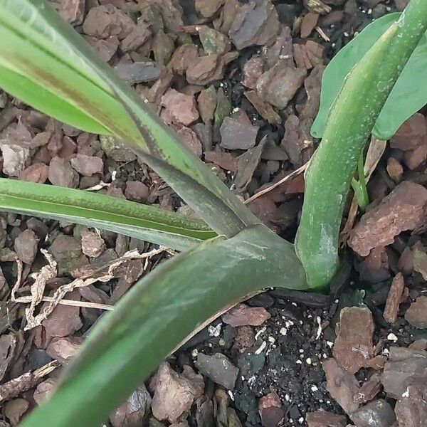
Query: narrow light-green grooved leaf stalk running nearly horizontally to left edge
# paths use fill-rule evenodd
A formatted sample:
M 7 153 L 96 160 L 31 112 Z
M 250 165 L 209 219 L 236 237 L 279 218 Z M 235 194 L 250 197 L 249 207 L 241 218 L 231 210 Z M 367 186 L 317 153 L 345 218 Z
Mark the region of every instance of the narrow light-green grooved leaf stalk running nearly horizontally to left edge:
M 216 236 L 198 219 L 115 197 L 0 178 L 0 210 L 104 228 L 180 251 Z

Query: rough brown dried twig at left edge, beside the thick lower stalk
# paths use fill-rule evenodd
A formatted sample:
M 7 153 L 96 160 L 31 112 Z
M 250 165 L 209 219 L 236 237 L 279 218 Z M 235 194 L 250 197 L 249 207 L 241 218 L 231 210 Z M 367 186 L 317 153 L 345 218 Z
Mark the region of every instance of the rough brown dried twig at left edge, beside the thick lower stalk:
M 26 372 L 4 384 L 0 385 L 0 403 L 13 399 L 19 394 L 32 389 L 43 380 L 43 377 L 50 374 L 56 368 L 60 367 L 57 360 L 53 360 L 41 368 L 32 372 Z

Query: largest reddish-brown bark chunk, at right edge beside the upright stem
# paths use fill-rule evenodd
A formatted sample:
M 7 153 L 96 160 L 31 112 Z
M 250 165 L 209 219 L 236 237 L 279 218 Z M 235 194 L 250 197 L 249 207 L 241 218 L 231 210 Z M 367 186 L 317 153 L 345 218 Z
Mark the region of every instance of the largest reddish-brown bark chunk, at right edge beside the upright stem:
M 381 203 L 362 216 L 349 237 L 349 246 L 367 256 L 372 248 L 387 246 L 402 231 L 416 230 L 426 223 L 427 189 L 403 181 Z

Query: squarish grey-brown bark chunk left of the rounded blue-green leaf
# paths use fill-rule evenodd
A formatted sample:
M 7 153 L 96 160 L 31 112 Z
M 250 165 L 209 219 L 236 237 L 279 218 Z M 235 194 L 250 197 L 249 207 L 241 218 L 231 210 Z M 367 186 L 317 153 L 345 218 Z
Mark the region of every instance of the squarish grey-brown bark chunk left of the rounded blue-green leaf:
M 279 60 L 260 76 L 256 88 L 264 100 L 282 110 L 304 83 L 305 75 L 305 68 L 295 68 Z

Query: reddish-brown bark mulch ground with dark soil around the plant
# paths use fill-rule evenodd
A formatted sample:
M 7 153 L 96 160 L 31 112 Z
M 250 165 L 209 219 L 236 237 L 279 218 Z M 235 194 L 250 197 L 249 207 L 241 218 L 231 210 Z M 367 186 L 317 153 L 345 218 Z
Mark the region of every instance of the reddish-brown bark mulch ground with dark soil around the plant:
M 290 241 L 302 174 L 256 194 L 315 152 L 310 127 L 325 65 L 372 19 L 407 3 L 51 2 Z M 1 91 L 0 150 L 1 176 L 193 214 L 120 141 L 63 125 Z M 233 307 L 169 357 L 107 425 L 427 426 L 426 159 L 421 110 L 386 145 L 367 213 L 352 218 L 350 203 L 344 212 L 351 231 L 341 236 L 345 263 L 331 294 L 277 288 Z M 48 399 L 102 312 L 173 255 L 115 233 L 0 214 L 0 426 L 16 426 Z M 80 278 L 85 286 L 65 291 Z M 35 283 L 44 298 L 30 307 Z

